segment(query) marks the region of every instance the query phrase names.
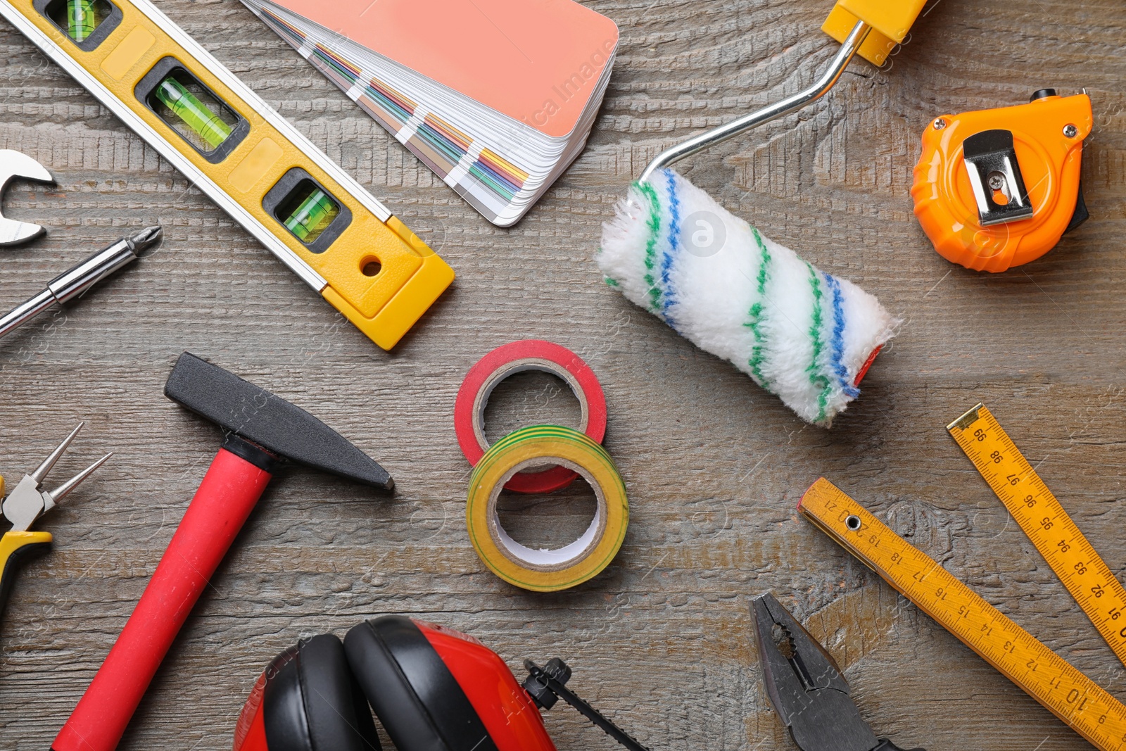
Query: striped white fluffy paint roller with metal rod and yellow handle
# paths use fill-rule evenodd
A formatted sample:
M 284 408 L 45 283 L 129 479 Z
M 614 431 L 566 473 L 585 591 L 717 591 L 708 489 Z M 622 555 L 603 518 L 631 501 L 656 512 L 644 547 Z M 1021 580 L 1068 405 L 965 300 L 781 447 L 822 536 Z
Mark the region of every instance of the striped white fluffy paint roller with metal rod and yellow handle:
M 860 379 L 900 322 L 874 296 L 762 236 L 669 166 L 805 107 L 854 55 L 883 64 L 924 1 L 839 0 L 822 29 L 841 47 L 813 84 L 662 152 L 602 227 L 598 263 L 608 285 L 826 428 L 860 395 Z

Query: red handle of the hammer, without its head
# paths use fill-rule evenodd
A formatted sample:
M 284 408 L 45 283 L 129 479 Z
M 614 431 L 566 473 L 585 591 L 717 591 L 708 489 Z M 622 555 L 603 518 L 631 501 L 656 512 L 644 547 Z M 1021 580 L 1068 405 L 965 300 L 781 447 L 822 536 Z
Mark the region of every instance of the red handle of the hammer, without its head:
M 220 449 L 117 643 L 51 744 L 53 751 L 117 748 L 161 660 L 270 476 Z

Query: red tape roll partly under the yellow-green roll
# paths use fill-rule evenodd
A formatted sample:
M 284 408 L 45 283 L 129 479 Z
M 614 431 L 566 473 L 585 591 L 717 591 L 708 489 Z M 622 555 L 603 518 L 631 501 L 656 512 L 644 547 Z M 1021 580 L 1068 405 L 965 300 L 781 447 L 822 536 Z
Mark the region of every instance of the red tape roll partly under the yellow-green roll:
M 540 370 L 562 378 L 582 409 L 579 430 L 595 442 L 606 437 L 606 395 L 590 366 L 566 347 L 542 339 L 522 339 L 492 350 L 470 368 L 454 404 L 454 429 L 457 442 L 470 464 L 476 466 L 489 449 L 485 440 L 485 405 L 493 388 L 516 373 Z M 566 467 L 554 466 L 542 472 L 520 472 L 504 483 L 517 493 L 549 493 L 566 488 L 579 475 Z

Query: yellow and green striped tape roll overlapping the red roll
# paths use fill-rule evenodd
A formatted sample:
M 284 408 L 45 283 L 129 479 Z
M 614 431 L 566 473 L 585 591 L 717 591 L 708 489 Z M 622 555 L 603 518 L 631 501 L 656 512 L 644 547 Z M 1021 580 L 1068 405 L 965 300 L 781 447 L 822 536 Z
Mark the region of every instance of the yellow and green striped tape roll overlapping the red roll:
M 517 543 L 497 516 L 497 499 L 504 483 L 517 472 L 544 464 L 578 472 L 598 499 L 587 531 L 554 551 Z M 609 565 L 626 536 L 629 502 L 606 449 L 571 428 L 530 426 L 501 438 L 477 462 L 470 476 L 465 520 L 474 549 L 494 574 L 524 589 L 555 592 L 581 584 Z

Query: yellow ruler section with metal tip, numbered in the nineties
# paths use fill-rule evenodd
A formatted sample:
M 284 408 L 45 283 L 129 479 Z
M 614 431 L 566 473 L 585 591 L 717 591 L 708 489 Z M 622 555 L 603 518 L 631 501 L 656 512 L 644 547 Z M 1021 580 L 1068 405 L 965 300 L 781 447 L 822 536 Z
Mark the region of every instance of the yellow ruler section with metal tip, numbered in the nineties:
M 946 429 L 1102 638 L 1126 663 L 1126 590 L 1012 439 L 984 404 Z

